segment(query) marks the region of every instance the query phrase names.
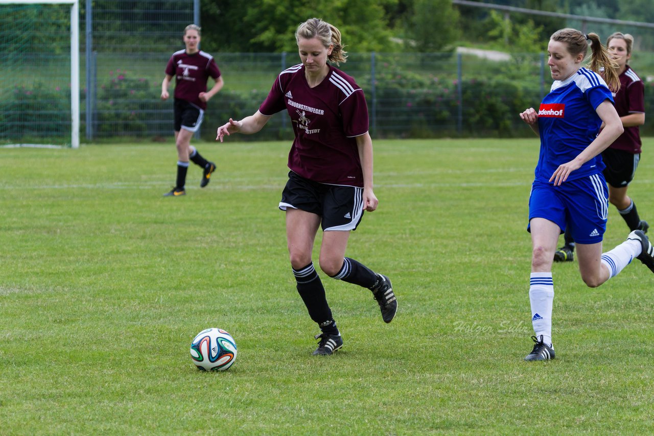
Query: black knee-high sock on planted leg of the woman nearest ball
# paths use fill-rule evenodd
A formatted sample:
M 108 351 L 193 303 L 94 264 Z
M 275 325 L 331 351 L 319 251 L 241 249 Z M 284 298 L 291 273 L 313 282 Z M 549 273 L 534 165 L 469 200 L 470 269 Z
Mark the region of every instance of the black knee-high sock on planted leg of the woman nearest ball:
M 303 268 L 293 269 L 293 275 L 298 282 L 298 293 L 309 310 L 311 319 L 317 322 L 322 333 L 337 335 L 336 321 L 332 317 L 332 310 L 329 308 L 325 296 L 325 288 L 322 287 L 313 262 Z

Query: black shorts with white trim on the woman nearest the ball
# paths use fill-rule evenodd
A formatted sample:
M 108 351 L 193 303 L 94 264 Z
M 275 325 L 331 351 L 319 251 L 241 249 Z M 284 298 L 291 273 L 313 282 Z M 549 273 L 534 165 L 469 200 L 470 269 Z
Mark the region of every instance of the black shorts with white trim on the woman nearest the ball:
M 356 230 L 364 214 L 363 193 L 363 188 L 313 182 L 289 171 L 279 209 L 317 214 L 323 231 Z

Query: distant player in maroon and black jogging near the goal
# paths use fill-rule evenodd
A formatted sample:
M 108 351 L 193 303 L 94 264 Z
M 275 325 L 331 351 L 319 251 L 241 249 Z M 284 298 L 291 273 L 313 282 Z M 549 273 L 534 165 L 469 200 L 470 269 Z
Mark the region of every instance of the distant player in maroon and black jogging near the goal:
M 177 181 L 175 187 L 165 193 L 166 197 L 186 195 L 186 172 L 188 160 L 202 168 L 200 188 L 209 183 L 216 164 L 203 158 L 191 145 L 191 137 L 198 131 L 204 118 L 207 101 L 223 86 L 222 76 L 216 61 L 208 53 L 198 48 L 200 28 L 190 24 L 184 29 L 186 48 L 173 53 L 165 67 L 162 82 L 162 100 L 168 99 L 168 85 L 175 76 L 175 145 L 177 146 Z M 214 86 L 207 92 L 207 80 L 215 80 Z

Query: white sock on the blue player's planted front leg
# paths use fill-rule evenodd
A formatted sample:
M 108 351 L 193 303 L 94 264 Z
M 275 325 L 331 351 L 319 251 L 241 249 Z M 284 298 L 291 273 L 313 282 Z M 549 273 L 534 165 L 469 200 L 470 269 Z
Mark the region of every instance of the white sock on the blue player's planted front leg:
M 554 282 L 552 273 L 531 273 L 529 301 L 532 309 L 532 324 L 536 338 L 552 345 L 552 303 L 554 301 Z

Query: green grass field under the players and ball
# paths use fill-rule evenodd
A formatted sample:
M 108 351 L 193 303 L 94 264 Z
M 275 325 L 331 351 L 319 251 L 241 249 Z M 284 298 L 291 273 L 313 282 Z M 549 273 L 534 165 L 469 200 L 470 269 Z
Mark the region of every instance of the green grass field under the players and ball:
M 596 289 L 555 265 L 557 359 L 523 361 L 535 138 L 375 141 L 379 209 L 347 254 L 398 315 L 321 275 L 345 341 L 327 358 L 277 210 L 290 141 L 229 141 L 197 144 L 218 173 L 200 190 L 192 167 L 181 198 L 172 141 L 0 148 L 0 435 L 654 432 L 639 261 Z M 653 149 L 629 188 L 652 224 Z M 627 233 L 611 207 L 606 250 Z M 235 337 L 229 371 L 193 365 L 206 327 Z

